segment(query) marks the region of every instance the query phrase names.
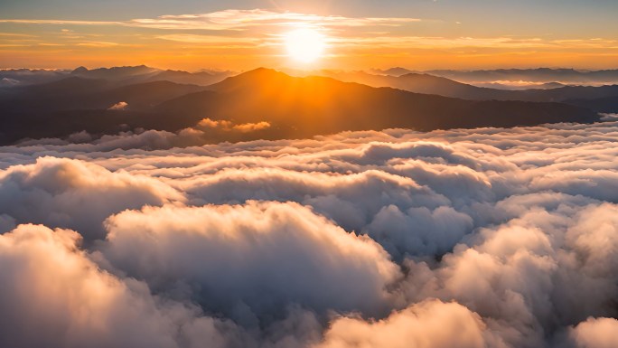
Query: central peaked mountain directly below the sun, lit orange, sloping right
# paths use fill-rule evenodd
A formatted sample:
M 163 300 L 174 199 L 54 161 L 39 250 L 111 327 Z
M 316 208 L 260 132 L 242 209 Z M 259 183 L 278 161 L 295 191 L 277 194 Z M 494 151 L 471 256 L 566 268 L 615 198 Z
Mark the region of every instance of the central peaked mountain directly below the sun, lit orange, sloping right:
M 267 69 L 249 71 L 155 108 L 236 122 L 267 121 L 271 136 L 313 136 L 342 130 L 409 127 L 513 127 L 547 122 L 591 122 L 585 108 L 557 103 L 475 101 L 371 88 L 325 77 L 293 78 Z

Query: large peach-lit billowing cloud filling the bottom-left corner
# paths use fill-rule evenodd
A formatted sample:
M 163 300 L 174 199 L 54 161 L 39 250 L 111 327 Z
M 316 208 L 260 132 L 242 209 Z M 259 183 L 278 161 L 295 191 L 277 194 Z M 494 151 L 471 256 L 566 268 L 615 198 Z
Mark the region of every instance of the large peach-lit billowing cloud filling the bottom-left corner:
M 0 345 L 178 347 L 207 340 L 226 346 L 221 333 L 233 332 L 234 324 L 99 270 L 79 240 L 72 230 L 37 225 L 0 235 Z

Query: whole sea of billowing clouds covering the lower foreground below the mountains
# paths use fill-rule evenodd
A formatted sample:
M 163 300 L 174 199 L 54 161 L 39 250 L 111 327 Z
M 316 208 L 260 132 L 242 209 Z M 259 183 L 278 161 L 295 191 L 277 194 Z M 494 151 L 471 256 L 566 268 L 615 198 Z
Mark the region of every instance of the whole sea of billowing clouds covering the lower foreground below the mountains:
M 0 346 L 618 346 L 618 122 L 0 147 Z

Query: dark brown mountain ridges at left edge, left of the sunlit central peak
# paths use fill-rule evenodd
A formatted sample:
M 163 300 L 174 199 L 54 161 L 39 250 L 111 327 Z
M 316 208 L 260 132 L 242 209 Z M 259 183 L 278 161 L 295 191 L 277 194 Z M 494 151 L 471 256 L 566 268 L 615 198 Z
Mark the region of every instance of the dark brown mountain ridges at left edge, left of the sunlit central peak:
M 24 137 L 69 136 L 80 130 L 113 134 L 124 130 L 123 125 L 146 129 L 189 127 L 193 121 L 159 117 L 150 109 L 164 100 L 203 89 L 169 81 L 115 87 L 108 80 L 78 77 L 12 89 L 10 95 L 0 95 L 0 145 Z M 108 110 L 119 102 L 127 103 L 126 110 Z

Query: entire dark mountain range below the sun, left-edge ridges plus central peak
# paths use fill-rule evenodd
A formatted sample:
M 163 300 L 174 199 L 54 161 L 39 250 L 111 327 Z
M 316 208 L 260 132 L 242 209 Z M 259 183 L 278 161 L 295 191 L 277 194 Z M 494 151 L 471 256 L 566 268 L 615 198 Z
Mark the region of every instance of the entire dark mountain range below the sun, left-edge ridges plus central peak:
M 425 131 L 599 119 L 588 108 L 560 103 L 454 99 L 326 77 L 294 78 L 267 69 L 206 88 L 169 81 L 115 87 L 109 80 L 72 77 L 14 90 L 14 95 L 0 100 L 5 111 L 0 115 L 3 144 L 23 137 L 69 136 L 81 130 L 98 134 L 137 127 L 177 131 L 194 127 L 202 118 L 270 125 L 257 133 L 233 138 L 223 134 L 213 141 L 390 127 Z

